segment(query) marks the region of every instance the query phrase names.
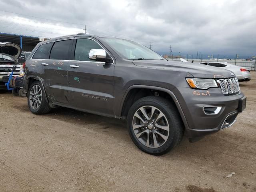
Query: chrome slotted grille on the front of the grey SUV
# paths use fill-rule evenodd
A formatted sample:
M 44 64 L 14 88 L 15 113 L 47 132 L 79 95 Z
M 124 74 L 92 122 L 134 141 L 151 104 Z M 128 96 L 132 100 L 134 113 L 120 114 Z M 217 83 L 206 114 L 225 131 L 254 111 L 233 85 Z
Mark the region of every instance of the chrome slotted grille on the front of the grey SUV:
M 235 94 L 240 90 L 237 78 L 219 79 L 217 82 L 220 84 L 220 88 L 224 95 Z

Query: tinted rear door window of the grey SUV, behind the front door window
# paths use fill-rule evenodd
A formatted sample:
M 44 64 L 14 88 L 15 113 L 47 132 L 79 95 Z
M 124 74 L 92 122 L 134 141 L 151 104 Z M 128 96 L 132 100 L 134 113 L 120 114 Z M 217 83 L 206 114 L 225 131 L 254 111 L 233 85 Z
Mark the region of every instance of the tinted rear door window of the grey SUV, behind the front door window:
M 53 44 L 50 59 L 68 60 L 68 50 L 71 40 L 57 41 Z

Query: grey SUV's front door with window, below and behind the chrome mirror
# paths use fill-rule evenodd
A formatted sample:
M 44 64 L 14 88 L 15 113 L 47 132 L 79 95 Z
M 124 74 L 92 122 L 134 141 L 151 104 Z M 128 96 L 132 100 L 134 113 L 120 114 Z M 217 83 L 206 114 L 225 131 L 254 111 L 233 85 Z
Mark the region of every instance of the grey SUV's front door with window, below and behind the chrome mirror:
M 104 48 L 96 39 L 75 38 L 72 48 L 74 59 L 68 67 L 68 100 L 74 108 L 112 115 L 114 62 L 106 64 L 90 60 L 91 49 Z

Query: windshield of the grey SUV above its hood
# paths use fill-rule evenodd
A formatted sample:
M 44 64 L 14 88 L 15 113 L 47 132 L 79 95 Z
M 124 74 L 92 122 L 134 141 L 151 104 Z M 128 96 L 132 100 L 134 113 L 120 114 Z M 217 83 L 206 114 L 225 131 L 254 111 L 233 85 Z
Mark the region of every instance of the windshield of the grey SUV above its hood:
M 117 38 L 104 38 L 104 40 L 120 56 L 128 60 L 164 59 L 156 52 L 134 41 Z

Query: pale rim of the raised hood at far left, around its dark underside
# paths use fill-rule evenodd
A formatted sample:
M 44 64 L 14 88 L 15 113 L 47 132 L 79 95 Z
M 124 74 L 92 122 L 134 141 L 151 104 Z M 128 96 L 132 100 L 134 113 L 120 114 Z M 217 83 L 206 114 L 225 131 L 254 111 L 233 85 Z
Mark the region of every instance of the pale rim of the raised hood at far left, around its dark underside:
M 8 54 L 18 60 L 21 54 L 21 47 L 14 43 L 0 43 L 0 53 Z

